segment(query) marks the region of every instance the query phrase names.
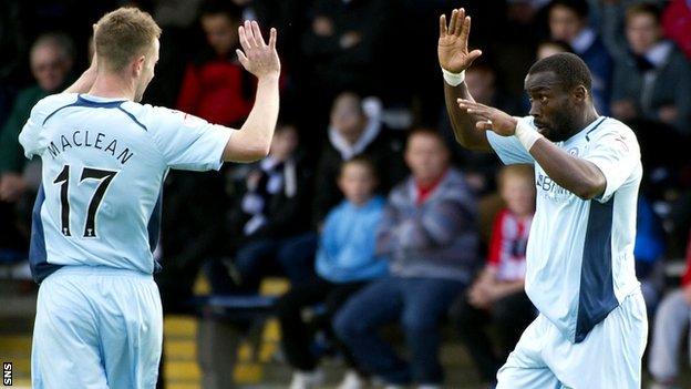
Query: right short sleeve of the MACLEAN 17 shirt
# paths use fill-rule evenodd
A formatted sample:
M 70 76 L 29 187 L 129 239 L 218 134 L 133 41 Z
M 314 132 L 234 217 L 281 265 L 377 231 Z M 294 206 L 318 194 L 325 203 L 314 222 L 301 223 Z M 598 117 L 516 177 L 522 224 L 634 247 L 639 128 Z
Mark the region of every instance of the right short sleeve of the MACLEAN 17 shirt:
M 154 142 L 167 166 L 187 171 L 219 170 L 223 153 L 235 131 L 200 117 L 165 108 L 153 108 Z

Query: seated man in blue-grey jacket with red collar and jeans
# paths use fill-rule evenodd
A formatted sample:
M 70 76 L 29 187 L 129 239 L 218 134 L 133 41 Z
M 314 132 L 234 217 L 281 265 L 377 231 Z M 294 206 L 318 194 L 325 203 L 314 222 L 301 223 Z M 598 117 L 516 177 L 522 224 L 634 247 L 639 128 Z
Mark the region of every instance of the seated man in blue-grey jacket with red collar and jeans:
M 365 372 L 390 385 L 414 380 L 439 387 L 437 325 L 478 265 L 475 203 L 462 174 L 450 166 L 439 133 L 413 132 L 405 161 L 412 176 L 389 195 L 377 234 L 377 253 L 391 256 L 391 276 L 349 299 L 333 328 Z M 384 324 L 399 320 L 410 365 L 378 335 Z

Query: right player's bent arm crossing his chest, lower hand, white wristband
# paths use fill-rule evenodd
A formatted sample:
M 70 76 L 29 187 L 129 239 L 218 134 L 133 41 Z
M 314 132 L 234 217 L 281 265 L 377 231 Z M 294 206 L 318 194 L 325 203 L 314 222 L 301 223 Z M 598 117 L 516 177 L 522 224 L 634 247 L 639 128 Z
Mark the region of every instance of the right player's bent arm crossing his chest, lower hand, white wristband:
M 518 120 L 503 111 L 468 100 L 457 103 L 461 110 L 482 119 L 477 123 L 479 129 L 492 130 L 502 136 L 517 136 L 559 186 L 584 199 L 595 198 L 605 192 L 605 174 L 592 162 L 570 155 L 536 131 L 518 127 Z

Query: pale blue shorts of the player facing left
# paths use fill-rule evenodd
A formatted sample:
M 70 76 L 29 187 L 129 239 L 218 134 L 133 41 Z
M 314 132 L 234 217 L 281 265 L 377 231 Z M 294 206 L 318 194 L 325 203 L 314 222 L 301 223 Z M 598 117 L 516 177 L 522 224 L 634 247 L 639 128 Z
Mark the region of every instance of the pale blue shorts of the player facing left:
M 648 339 L 640 291 L 625 298 L 579 344 L 545 316 L 526 328 L 497 373 L 497 389 L 633 389 L 641 387 Z

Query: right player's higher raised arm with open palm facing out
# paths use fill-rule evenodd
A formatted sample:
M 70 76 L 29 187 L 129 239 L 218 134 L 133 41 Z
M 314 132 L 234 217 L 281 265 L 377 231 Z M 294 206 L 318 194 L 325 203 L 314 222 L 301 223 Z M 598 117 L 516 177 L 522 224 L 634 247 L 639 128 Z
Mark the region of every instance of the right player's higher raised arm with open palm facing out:
M 468 52 L 470 32 L 471 17 L 465 16 L 463 8 L 452 11 L 448 25 L 446 25 L 446 16 L 442 14 L 440 17 L 437 54 L 443 70 L 451 73 L 461 73 L 482 55 L 479 50 Z M 444 98 L 456 142 L 466 149 L 491 151 L 492 146 L 487 141 L 485 130 L 476 127 L 479 121 L 478 117 L 458 109 L 458 99 L 474 101 L 465 82 L 461 82 L 457 86 L 452 86 L 444 81 Z

